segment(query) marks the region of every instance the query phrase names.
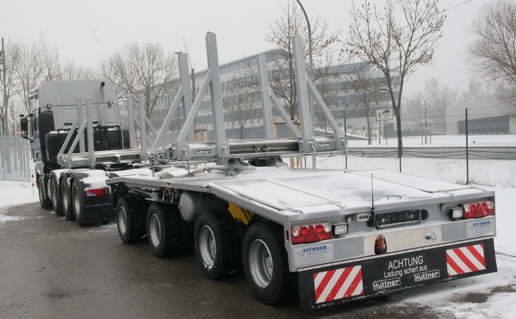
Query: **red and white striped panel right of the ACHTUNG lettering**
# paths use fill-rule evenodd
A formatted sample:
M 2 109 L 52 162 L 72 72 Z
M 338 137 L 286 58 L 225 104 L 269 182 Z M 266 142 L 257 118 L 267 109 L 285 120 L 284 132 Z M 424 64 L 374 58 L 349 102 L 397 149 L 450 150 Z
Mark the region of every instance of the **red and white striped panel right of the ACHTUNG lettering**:
M 484 244 L 448 249 L 446 251 L 448 276 L 486 269 Z

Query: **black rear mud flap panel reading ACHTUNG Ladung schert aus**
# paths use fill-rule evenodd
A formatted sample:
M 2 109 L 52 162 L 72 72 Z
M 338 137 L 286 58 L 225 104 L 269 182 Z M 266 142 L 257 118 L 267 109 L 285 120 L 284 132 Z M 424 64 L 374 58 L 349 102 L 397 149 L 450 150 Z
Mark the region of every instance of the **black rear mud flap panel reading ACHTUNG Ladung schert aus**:
M 392 291 L 497 271 L 493 238 L 398 251 L 301 269 L 302 309 L 319 309 Z

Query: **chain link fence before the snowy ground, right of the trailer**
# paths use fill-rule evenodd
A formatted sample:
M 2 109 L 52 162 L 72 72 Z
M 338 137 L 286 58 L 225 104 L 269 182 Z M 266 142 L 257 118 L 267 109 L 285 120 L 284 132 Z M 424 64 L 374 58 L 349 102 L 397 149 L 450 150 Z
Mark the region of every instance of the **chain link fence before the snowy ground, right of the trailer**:
M 372 120 L 368 129 L 366 121 L 355 120 L 346 125 L 347 156 L 317 156 L 316 167 L 389 169 L 451 183 L 515 187 L 516 119 L 462 114 L 444 123 L 402 125 L 401 158 L 394 123 Z

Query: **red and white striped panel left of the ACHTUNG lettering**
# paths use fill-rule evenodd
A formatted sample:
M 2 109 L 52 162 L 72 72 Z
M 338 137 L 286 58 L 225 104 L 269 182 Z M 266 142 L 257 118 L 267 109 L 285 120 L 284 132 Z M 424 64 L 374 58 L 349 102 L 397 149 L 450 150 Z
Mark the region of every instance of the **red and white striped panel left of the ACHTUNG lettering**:
M 347 267 L 314 274 L 316 303 L 364 294 L 362 267 Z

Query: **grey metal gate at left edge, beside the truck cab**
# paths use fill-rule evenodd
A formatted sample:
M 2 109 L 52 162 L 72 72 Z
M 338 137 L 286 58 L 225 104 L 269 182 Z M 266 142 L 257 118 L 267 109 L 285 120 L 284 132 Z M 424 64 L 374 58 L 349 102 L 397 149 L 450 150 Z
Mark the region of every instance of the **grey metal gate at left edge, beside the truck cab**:
M 21 136 L 0 137 L 0 180 L 30 181 L 30 142 Z

